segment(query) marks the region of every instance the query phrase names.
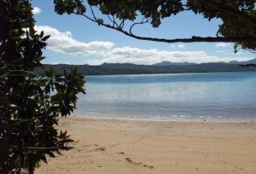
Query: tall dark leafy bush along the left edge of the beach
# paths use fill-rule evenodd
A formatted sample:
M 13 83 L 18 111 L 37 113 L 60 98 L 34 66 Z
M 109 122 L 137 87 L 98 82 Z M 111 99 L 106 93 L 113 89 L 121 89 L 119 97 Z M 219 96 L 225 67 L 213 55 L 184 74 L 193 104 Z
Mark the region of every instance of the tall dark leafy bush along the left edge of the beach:
M 29 0 L 1 1 L 0 19 L 0 173 L 33 173 L 45 154 L 70 149 L 67 132 L 58 133 L 54 125 L 76 108 L 85 82 L 77 69 L 33 72 L 43 67 L 49 36 L 35 31 Z

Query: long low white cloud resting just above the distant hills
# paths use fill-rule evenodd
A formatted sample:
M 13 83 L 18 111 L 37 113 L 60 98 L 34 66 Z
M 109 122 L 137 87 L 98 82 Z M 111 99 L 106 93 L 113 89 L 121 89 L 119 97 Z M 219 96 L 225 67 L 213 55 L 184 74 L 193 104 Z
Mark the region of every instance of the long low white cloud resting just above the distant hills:
M 228 58 L 219 59 L 217 56 L 208 55 L 205 51 L 159 51 L 122 47 L 107 52 L 103 59 L 87 60 L 87 63 L 91 65 L 100 65 L 104 62 L 151 65 L 161 61 L 202 63 L 228 60 Z

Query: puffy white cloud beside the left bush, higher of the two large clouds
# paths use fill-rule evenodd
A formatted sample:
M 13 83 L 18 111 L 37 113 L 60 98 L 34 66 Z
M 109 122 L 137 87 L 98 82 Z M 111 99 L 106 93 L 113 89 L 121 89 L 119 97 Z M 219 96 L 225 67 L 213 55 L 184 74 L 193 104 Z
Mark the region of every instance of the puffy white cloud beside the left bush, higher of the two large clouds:
M 104 54 L 105 51 L 110 51 L 111 47 L 114 45 L 111 42 L 102 41 L 94 41 L 90 43 L 79 42 L 72 38 L 70 31 L 61 32 L 58 29 L 49 26 L 36 26 L 36 30 L 38 32 L 44 30 L 45 36 L 51 36 L 47 40 L 47 49 L 74 56 Z

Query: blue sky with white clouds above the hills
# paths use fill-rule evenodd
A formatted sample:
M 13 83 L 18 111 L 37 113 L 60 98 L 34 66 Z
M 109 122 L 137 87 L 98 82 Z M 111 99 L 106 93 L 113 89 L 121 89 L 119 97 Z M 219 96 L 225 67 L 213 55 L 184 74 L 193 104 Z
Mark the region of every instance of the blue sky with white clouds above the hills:
M 202 63 L 256 58 L 249 51 L 241 50 L 234 54 L 234 44 L 231 43 L 165 44 L 136 40 L 81 16 L 60 16 L 54 12 L 53 2 L 32 1 L 37 31 L 44 30 L 45 35 L 51 35 L 44 51 L 44 63 L 151 65 L 161 61 Z M 201 15 L 185 12 L 163 20 L 160 28 L 143 25 L 136 27 L 134 33 L 161 38 L 215 36 L 220 23 L 220 20 L 209 22 Z

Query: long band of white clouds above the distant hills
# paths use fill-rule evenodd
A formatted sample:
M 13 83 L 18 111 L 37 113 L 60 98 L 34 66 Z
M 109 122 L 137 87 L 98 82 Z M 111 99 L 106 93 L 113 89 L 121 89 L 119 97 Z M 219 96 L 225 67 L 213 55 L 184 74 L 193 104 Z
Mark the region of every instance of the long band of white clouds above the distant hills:
M 51 36 L 47 40 L 47 49 L 72 56 L 85 57 L 87 64 L 90 65 L 100 65 L 104 62 L 152 65 L 161 61 L 203 63 L 234 60 L 232 56 L 219 58 L 206 51 L 160 51 L 130 46 L 114 47 L 113 43 L 103 41 L 85 43 L 74 39 L 70 31 L 62 32 L 49 26 L 37 26 L 36 30 L 38 32 L 44 30 L 45 35 Z M 215 47 L 227 47 L 228 45 L 219 43 Z M 186 45 L 173 44 L 171 47 L 184 49 Z M 250 58 L 244 57 L 239 59 L 247 60 Z

